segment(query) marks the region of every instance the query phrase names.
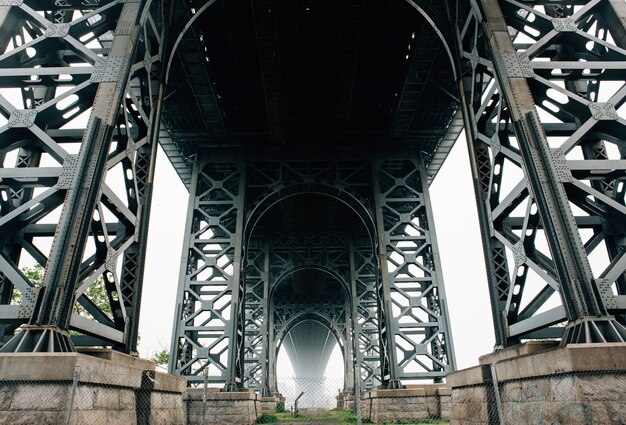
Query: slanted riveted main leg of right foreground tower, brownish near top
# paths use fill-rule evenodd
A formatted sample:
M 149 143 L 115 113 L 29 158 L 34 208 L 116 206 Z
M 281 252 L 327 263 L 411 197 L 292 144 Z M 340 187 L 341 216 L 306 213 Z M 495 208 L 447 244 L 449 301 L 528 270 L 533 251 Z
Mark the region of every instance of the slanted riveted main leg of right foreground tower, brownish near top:
M 503 25 L 506 20 L 497 1 L 483 1 L 482 11 L 485 14 L 483 31 L 559 277 L 561 297 L 569 319 L 563 343 L 624 341 L 626 329 L 608 313 L 563 186 L 558 167 L 560 158 L 550 148 L 535 109 L 527 82 L 533 78 L 532 71 L 527 73 L 525 67 L 532 53 L 526 52 L 526 56 L 522 56 L 515 49 L 508 27 Z M 528 10 L 527 13 L 533 12 Z M 568 22 L 559 24 L 568 25 Z M 536 48 L 540 47 L 541 44 L 536 45 Z

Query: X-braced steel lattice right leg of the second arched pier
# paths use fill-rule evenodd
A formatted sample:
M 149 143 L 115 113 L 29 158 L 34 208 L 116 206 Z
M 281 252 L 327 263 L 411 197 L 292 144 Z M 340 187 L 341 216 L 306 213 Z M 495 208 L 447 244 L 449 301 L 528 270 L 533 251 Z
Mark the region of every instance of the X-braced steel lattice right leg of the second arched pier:
M 373 173 L 388 385 L 439 380 L 455 362 L 424 170 L 417 160 L 384 160 Z

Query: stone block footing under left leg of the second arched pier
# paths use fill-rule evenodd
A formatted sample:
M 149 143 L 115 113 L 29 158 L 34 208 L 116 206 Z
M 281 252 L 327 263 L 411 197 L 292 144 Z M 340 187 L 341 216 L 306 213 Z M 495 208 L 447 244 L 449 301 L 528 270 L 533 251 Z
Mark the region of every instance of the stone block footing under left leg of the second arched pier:
M 189 388 L 185 396 L 187 424 L 198 425 L 202 421 L 202 397 L 204 389 Z M 269 397 L 263 397 L 269 398 Z M 219 388 L 209 388 L 204 410 L 206 425 L 252 425 L 261 415 L 260 403 L 252 390 L 221 392 Z M 276 407 L 274 405 L 274 411 Z

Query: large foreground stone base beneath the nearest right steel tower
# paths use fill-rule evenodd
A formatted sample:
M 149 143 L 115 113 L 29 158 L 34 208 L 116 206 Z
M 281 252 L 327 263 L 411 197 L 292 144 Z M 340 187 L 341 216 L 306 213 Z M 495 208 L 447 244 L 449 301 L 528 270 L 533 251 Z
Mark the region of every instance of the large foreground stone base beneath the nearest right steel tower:
M 626 344 L 528 343 L 480 363 L 447 377 L 451 424 L 626 423 Z

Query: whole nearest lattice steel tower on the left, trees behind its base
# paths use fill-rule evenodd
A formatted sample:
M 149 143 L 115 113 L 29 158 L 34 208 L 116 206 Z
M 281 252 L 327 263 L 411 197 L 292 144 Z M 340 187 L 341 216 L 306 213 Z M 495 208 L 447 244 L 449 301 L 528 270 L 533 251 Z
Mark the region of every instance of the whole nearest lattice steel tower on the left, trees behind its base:
M 161 5 L 4 4 L 0 316 L 5 340 L 23 327 L 3 350 L 73 350 L 71 328 L 80 345 L 135 352 L 162 95 Z M 45 268 L 41 286 L 20 270 L 31 261 Z M 90 299 L 94 285 L 104 286 L 110 312 Z

